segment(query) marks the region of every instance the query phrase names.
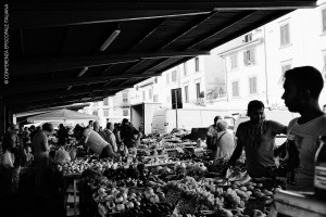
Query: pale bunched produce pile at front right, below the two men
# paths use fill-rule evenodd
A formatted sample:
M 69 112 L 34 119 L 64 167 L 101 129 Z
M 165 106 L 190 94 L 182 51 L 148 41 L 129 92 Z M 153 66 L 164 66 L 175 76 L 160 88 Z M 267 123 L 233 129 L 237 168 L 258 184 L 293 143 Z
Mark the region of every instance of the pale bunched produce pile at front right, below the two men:
M 171 181 L 165 189 L 180 192 L 180 196 L 198 205 L 198 210 L 215 210 L 220 216 L 253 216 L 253 213 L 266 212 L 273 202 L 273 189 L 267 190 L 264 184 L 248 181 L 242 186 L 221 187 L 218 183 L 202 179 L 196 181 L 192 177 Z M 256 207 L 249 204 L 260 201 L 263 206 L 258 212 Z M 254 202 L 256 203 L 256 202 Z

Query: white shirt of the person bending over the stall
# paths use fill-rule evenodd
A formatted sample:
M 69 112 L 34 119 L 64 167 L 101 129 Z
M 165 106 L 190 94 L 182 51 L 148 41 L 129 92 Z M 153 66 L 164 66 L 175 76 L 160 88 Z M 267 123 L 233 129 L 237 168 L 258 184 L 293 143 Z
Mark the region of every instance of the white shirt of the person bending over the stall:
M 90 128 L 86 128 L 83 136 L 88 136 L 86 145 L 97 154 L 101 154 L 103 149 L 109 144 L 98 132 Z

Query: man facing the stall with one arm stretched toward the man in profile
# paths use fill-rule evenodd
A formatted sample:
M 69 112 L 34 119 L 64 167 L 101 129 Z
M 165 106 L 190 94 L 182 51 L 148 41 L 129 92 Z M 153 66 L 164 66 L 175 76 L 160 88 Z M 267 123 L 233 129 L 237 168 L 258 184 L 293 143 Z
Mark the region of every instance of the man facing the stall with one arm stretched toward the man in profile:
M 274 159 L 275 137 L 287 133 L 287 127 L 274 122 L 266 120 L 264 104 L 253 100 L 248 104 L 250 120 L 241 123 L 237 129 L 237 146 L 234 151 L 229 165 L 234 165 L 240 157 L 242 150 L 246 151 L 246 167 L 250 177 L 273 177 L 276 168 Z

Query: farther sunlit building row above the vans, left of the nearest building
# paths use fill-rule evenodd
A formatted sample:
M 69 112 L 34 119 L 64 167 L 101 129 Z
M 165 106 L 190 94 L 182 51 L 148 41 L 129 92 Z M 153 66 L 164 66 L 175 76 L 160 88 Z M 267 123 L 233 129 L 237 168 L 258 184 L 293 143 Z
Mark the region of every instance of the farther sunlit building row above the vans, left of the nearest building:
M 184 107 L 193 107 L 225 99 L 223 59 L 203 55 L 179 64 L 154 78 L 135 86 L 131 104 L 159 102 L 172 106 L 171 90 L 180 88 Z

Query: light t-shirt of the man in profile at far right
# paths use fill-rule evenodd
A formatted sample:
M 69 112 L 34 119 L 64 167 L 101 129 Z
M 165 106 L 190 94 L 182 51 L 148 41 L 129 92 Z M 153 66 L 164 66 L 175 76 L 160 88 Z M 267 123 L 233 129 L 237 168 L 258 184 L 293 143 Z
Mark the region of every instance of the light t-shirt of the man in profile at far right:
M 298 118 L 292 119 L 288 126 L 289 135 L 294 136 L 300 165 L 296 170 L 296 184 L 289 184 L 287 189 L 313 191 L 315 154 L 319 146 L 318 137 L 326 135 L 326 114 L 302 125 L 298 124 Z

